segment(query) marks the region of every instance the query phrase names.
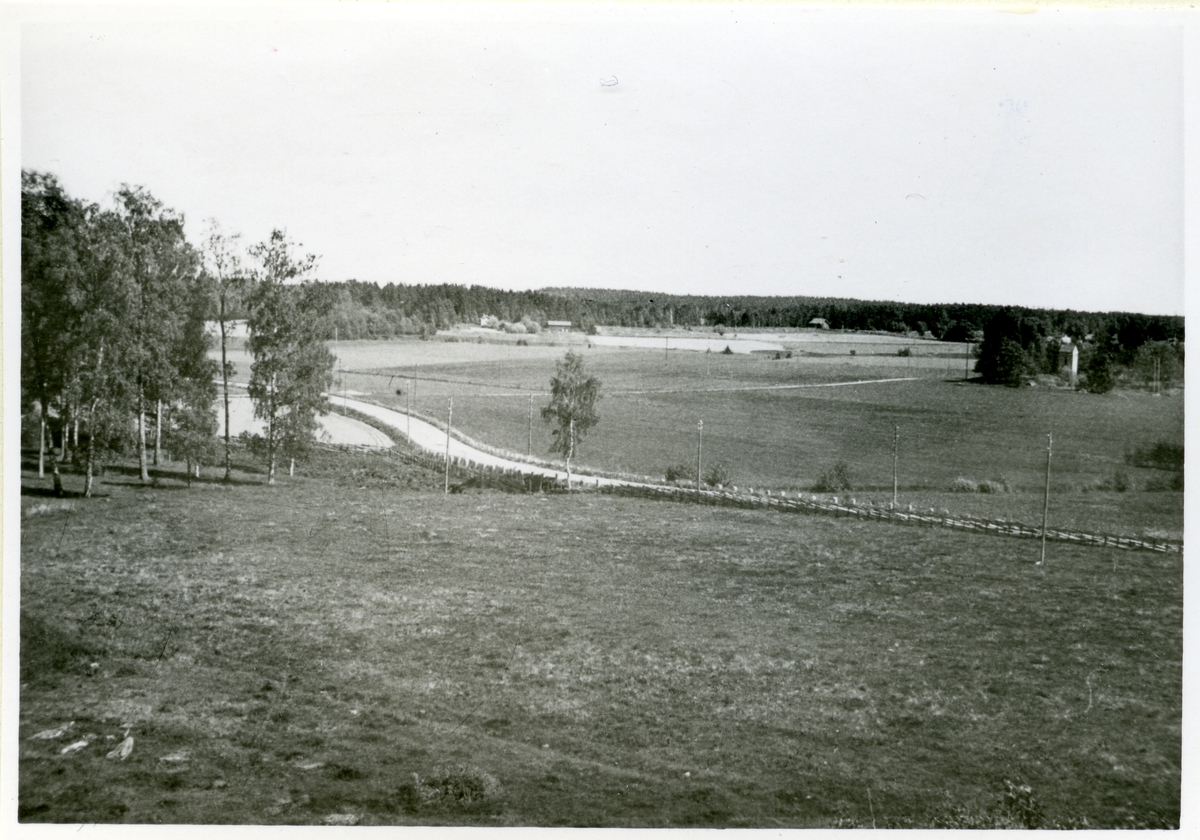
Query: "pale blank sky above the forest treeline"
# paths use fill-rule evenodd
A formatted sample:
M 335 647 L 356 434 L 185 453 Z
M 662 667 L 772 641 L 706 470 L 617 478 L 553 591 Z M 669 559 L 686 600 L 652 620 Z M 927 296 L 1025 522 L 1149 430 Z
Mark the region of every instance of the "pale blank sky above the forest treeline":
M 1183 312 L 1174 18 L 221 13 L 26 23 L 22 166 L 325 280 Z

